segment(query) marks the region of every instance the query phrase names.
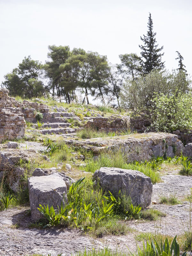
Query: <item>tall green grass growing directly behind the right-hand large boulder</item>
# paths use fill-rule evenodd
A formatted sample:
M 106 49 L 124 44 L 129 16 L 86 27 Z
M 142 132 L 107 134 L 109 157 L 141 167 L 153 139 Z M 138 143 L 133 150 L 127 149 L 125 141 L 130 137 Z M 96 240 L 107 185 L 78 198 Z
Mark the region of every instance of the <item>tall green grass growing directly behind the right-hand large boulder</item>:
M 95 172 L 101 167 L 116 167 L 121 169 L 136 170 L 139 172 L 143 172 L 146 176 L 150 177 L 153 184 L 161 181 L 159 173 L 155 172 L 149 164 L 127 164 L 127 159 L 120 149 L 102 152 L 97 157 L 97 159 L 92 159 L 91 161 L 89 161 L 84 167 L 84 170 L 86 172 Z

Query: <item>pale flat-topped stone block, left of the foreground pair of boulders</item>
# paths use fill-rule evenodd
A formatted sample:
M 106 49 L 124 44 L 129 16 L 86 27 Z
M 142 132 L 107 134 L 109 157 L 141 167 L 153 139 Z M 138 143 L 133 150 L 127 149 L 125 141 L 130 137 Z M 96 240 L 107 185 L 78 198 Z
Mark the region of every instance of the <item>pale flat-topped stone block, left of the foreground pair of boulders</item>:
M 67 186 L 62 176 L 54 173 L 47 176 L 28 178 L 29 201 L 31 208 L 31 217 L 33 221 L 42 218 L 42 214 L 38 211 L 39 204 L 53 205 L 57 209 L 57 205 L 61 202 L 67 202 Z

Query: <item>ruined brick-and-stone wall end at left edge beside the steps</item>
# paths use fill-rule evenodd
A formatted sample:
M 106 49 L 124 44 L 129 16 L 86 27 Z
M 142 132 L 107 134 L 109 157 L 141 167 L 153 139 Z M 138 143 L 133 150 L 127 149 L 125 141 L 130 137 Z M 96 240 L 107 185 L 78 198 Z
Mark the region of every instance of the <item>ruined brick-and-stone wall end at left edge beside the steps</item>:
M 21 139 L 25 135 L 25 119 L 20 108 L 14 108 L 9 90 L 0 89 L 0 142 Z

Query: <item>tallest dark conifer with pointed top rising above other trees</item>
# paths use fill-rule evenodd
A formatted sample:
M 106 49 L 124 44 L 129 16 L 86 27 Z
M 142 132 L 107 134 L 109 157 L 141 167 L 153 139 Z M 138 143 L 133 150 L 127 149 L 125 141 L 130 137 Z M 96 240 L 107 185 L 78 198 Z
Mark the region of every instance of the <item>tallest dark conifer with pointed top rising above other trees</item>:
M 139 45 L 143 74 L 148 74 L 154 69 L 160 70 L 164 68 L 164 62 L 161 60 L 161 57 L 164 55 L 164 53 L 161 53 L 163 46 L 158 48 L 155 36 L 156 33 L 153 32 L 153 20 L 151 19 L 151 13 L 149 13 L 147 36 L 143 35 L 143 37 L 140 37 L 144 45 Z

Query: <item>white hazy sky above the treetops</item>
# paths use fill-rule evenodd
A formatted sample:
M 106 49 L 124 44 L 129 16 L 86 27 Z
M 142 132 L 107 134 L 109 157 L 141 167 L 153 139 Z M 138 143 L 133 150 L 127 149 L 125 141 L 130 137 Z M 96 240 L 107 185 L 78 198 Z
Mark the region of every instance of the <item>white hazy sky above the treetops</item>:
M 0 83 L 25 56 L 44 63 L 52 44 L 99 52 L 113 64 L 119 54 L 139 55 L 149 12 L 166 68 L 178 68 L 179 51 L 192 74 L 192 0 L 0 0 Z

